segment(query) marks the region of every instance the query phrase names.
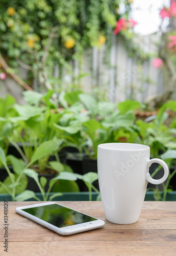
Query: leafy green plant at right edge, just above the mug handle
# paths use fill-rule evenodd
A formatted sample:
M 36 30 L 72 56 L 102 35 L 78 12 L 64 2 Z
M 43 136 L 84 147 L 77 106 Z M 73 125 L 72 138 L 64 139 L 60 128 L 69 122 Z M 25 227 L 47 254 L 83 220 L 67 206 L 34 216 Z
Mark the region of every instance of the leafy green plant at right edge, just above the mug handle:
M 173 111 L 169 117 L 167 110 Z M 163 104 L 156 116 L 146 120 L 137 120 L 138 142 L 150 146 L 151 157 L 159 157 L 161 153 L 176 148 L 176 123 L 174 119 L 176 101 L 168 101 Z

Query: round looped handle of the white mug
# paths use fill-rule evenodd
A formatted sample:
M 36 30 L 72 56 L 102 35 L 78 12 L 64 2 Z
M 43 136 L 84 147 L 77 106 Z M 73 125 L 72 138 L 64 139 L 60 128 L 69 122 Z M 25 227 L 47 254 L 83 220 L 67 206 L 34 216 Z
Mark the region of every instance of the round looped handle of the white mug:
M 150 176 L 149 173 L 147 173 L 146 180 L 148 182 L 152 183 L 152 184 L 158 185 L 158 184 L 163 183 L 167 179 L 167 177 L 169 175 L 169 168 L 168 168 L 167 164 L 163 160 L 161 160 L 159 158 L 153 158 L 153 159 L 148 160 L 147 168 L 149 168 L 150 165 L 152 165 L 153 163 L 159 163 L 159 164 L 161 164 L 163 166 L 163 168 L 164 168 L 164 176 L 161 179 L 159 179 L 159 180 L 155 180 L 155 179 L 153 179 Z

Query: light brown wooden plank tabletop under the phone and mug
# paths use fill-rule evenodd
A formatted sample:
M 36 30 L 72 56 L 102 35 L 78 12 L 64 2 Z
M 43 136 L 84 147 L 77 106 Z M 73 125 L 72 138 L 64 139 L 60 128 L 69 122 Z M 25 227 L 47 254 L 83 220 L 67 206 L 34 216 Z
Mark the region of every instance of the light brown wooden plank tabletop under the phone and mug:
M 15 207 L 37 202 L 8 203 L 8 252 L 4 251 L 4 202 L 0 203 L 0 255 L 176 255 L 176 202 L 144 202 L 137 223 L 106 220 L 102 202 L 58 202 L 106 221 L 103 228 L 71 236 L 59 234 L 15 213 Z

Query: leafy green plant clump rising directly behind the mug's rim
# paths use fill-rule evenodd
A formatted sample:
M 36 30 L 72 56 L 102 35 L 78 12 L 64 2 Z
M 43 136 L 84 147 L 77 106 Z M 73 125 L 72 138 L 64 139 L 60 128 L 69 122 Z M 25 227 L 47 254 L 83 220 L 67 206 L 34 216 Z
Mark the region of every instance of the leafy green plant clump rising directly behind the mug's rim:
M 130 108 L 127 100 L 123 102 L 123 105 L 119 104 L 119 109 L 117 109 L 117 106 L 112 102 L 97 103 L 94 99 L 93 103 L 92 98 L 88 98 L 86 104 L 91 105 L 95 117 L 83 123 L 83 136 L 86 141 L 84 151 L 87 155 L 96 159 L 98 144 L 134 142 L 137 133 L 134 130 L 135 115 L 133 109 L 139 108 L 139 103 Z

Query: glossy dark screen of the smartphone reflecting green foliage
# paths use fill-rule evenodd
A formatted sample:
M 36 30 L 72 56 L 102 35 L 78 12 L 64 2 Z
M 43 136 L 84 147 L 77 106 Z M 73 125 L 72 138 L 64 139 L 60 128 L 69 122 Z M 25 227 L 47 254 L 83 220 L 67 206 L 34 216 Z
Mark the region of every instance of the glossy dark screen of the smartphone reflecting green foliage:
M 59 204 L 43 205 L 28 209 L 22 209 L 43 221 L 46 221 L 58 228 L 95 221 L 97 219 L 81 212 L 69 209 Z

